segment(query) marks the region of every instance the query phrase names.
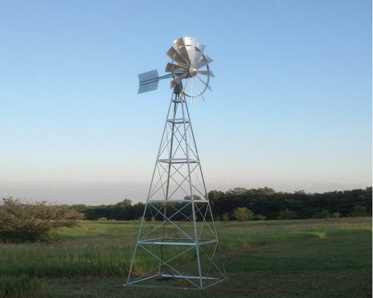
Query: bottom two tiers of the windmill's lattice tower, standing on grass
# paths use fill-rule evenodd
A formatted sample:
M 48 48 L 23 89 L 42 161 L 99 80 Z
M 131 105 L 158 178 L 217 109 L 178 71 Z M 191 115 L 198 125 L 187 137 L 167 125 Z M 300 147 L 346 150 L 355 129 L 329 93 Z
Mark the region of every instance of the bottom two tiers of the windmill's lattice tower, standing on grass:
M 132 285 L 203 289 L 225 279 L 208 203 L 148 202 L 145 216 L 163 220 L 141 228 L 137 257 L 147 260 L 147 269 L 132 273 Z

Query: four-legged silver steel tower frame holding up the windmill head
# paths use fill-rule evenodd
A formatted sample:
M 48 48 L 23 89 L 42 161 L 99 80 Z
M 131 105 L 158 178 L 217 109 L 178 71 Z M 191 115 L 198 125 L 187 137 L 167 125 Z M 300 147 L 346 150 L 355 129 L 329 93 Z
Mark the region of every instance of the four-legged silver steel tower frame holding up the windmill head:
M 181 107 L 181 117 L 179 116 L 179 107 Z M 166 155 L 166 157 L 164 155 Z M 185 171 L 185 167 L 187 167 L 187 171 Z M 198 183 L 198 185 L 192 181 L 192 175 L 197 176 L 196 183 Z M 179 180 L 177 180 L 178 176 Z M 189 197 L 188 200 L 182 197 L 183 194 Z M 195 195 L 198 195 L 198 197 L 201 195 L 201 199 L 197 200 L 198 197 Z M 159 207 L 157 204 L 163 205 Z M 179 205 L 181 207 L 175 207 Z M 167 210 L 167 206 L 174 209 L 170 215 L 167 214 L 167 212 L 170 212 L 170 208 Z M 189 214 L 189 208 L 191 208 L 191 214 Z M 147 212 L 151 214 L 154 212 L 155 216 L 158 217 L 163 216 L 163 221 L 160 221 L 153 229 L 150 229 L 148 233 L 144 233 Z M 179 224 L 178 221 L 174 221 L 174 218 L 176 219 L 177 216 L 181 214 L 187 222 L 193 225 L 192 232 L 184 231 L 185 227 Z M 197 216 L 198 219 L 196 218 Z M 182 237 L 166 237 L 166 226 L 167 228 L 175 228 L 175 231 L 181 233 Z M 160 233 L 158 229 L 163 229 L 161 237 L 157 234 Z M 152 238 L 153 233 L 157 235 L 156 238 Z M 190 235 L 190 233 L 192 233 L 192 235 Z M 208 238 L 204 238 L 205 233 L 208 235 Z M 151 250 L 151 248 L 157 245 L 159 246 L 160 254 Z M 206 248 L 208 245 L 211 245 L 211 247 Z M 215 247 L 213 245 L 215 245 Z M 163 259 L 163 249 L 168 246 L 178 247 L 178 249 L 182 251 L 178 252 L 175 257 L 165 261 Z M 179 247 L 186 248 L 182 249 Z M 147 252 L 159 263 L 158 266 L 155 266 L 142 276 L 132 277 L 134 261 L 139 249 Z M 191 250 L 193 249 L 196 250 L 195 261 L 198 266 L 198 274 L 186 275 L 180 272 L 180 270 L 172 264 L 172 261 L 182 256 L 182 254 L 191 254 Z M 207 263 L 210 262 L 208 266 L 201 268 L 201 257 L 203 257 L 204 261 L 207 260 Z M 205 269 L 205 267 L 208 269 Z M 175 274 L 164 273 L 162 271 L 164 268 L 167 272 L 173 272 Z M 204 273 L 208 274 L 211 272 L 214 272 L 213 276 L 204 275 Z M 159 285 L 159 282 L 156 285 L 149 283 L 150 280 L 159 280 L 162 278 L 167 280 L 167 285 Z M 170 280 L 185 280 L 187 281 L 187 285 L 174 285 L 172 281 L 170 282 L 167 278 Z M 129 275 L 125 285 L 128 287 L 179 287 L 182 289 L 194 288 L 202 290 L 216 283 L 220 283 L 226 278 L 215 222 L 213 221 L 213 214 L 211 212 L 210 202 L 208 201 L 201 163 L 196 148 L 196 141 L 191 127 L 187 102 L 179 98 L 177 94 L 172 93 L 165 120 L 165 127 L 163 129 L 163 136 L 153 170 L 151 185 L 148 190 L 146 206 L 141 219 L 132 263 L 129 267 Z

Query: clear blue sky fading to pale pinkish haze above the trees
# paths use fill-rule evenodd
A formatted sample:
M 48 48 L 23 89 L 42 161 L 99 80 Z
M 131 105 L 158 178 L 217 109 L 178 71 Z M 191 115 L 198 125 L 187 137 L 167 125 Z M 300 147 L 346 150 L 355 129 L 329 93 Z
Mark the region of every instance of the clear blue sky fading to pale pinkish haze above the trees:
M 0 197 L 145 201 L 179 37 L 213 58 L 189 108 L 208 190 L 372 186 L 372 1 L 1 1 Z

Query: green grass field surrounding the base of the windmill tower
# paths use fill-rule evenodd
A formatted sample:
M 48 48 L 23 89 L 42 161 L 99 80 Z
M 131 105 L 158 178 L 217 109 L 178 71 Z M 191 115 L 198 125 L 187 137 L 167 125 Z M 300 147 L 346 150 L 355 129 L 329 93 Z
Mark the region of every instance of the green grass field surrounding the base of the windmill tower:
M 138 228 L 81 221 L 57 244 L 2 244 L 0 293 L 1 279 L 26 276 L 43 298 L 372 297 L 372 218 L 217 222 L 229 278 L 202 292 L 123 287 Z

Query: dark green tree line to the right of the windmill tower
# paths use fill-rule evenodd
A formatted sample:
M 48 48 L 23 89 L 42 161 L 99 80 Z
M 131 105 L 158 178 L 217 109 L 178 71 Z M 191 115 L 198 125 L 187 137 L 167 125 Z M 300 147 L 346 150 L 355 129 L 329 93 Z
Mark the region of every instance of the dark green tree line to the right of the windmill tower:
M 310 219 L 342 216 L 372 216 L 372 187 L 327 193 L 276 192 L 272 188 L 233 188 L 208 193 L 216 219 L 234 219 L 246 208 L 252 219 Z M 233 218 L 232 218 L 233 217 Z

